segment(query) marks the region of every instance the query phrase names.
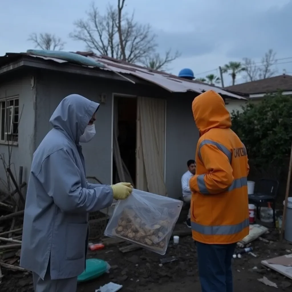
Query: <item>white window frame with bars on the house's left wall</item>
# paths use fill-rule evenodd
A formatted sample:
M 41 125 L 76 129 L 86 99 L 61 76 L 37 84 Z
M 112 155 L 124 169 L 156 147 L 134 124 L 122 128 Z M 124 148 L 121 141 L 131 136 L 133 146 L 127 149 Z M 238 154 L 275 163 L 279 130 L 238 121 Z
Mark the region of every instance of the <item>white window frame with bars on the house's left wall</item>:
M 13 105 L 9 105 L 9 102 L 13 100 Z M 18 100 L 18 105 L 15 106 L 15 100 Z M 2 102 L 5 102 L 5 117 L 4 117 L 4 122 L 6 122 L 6 114 L 8 112 L 8 109 L 12 109 L 11 113 L 11 124 L 10 124 L 10 131 L 7 131 L 7 129 L 5 129 L 5 125 L 4 125 L 4 140 L 2 140 L 2 113 L 3 113 L 3 107 L 2 107 Z M 15 96 L 10 96 L 7 98 L 1 98 L 0 99 L 0 144 L 4 144 L 4 145 L 14 145 L 14 146 L 18 146 L 18 139 L 17 141 L 13 141 L 13 140 L 8 140 L 7 136 L 8 135 L 13 135 L 13 124 L 14 124 L 14 115 L 15 115 L 15 107 L 18 107 L 18 121 L 17 121 L 17 138 L 19 138 L 19 95 L 15 95 Z M 16 123 L 15 123 L 16 124 Z M 16 135 L 16 134 L 15 134 Z

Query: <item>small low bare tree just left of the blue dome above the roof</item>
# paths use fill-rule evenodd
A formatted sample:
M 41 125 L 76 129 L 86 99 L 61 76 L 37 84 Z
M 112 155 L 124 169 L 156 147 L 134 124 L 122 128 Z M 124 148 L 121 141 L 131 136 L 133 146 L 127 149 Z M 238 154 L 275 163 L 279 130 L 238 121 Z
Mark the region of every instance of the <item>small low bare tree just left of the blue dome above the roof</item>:
M 165 55 L 162 57 L 159 53 L 155 53 L 152 56 L 146 56 L 144 60 L 142 60 L 142 64 L 148 68 L 154 70 L 167 70 L 167 65 L 172 61 L 180 57 L 180 53 L 176 51 L 173 55 L 171 54 L 171 49 L 166 51 Z

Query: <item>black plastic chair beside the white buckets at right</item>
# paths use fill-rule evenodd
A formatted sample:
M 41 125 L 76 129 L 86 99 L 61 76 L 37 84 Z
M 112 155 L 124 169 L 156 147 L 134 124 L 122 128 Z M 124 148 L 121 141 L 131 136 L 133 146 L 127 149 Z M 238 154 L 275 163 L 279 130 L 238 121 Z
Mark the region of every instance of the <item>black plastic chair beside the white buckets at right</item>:
M 257 218 L 260 219 L 260 207 L 262 203 L 272 203 L 273 221 L 276 225 L 275 208 L 279 182 L 272 179 L 260 179 L 255 185 L 255 193 L 248 195 L 248 201 L 256 205 Z

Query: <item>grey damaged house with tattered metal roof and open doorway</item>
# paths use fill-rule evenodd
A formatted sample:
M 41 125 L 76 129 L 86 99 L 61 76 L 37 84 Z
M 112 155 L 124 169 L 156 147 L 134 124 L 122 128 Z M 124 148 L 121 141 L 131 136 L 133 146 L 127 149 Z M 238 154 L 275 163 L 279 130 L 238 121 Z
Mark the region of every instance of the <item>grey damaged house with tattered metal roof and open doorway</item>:
M 77 52 L 88 59 L 81 64 L 66 60 L 64 53 L 0 57 L 0 153 L 7 156 L 10 145 L 11 162 L 16 172 L 23 166 L 24 181 L 34 151 L 51 129 L 51 114 L 62 98 L 76 93 L 100 103 L 96 135 L 82 145 L 87 175 L 103 184 L 131 181 L 138 189 L 178 198 L 199 138 L 194 97 L 213 89 L 223 98 L 245 99 L 106 56 Z M 0 165 L 1 178 L 4 171 Z

